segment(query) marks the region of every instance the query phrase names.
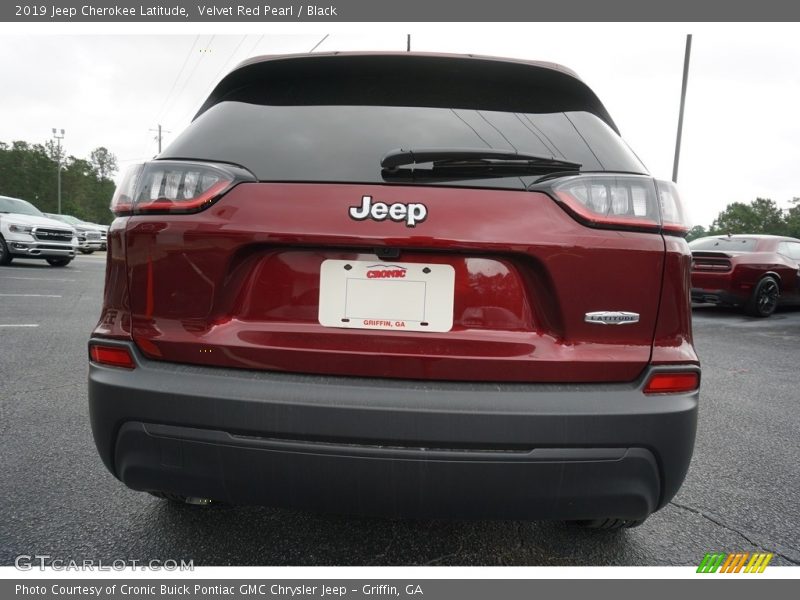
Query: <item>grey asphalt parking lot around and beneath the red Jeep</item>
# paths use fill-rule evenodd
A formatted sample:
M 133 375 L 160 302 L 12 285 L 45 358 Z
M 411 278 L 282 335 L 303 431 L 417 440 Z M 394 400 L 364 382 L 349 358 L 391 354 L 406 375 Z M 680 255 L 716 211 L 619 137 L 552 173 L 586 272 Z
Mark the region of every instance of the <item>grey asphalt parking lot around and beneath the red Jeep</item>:
M 128 490 L 95 451 L 86 341 L 104 257 L 0 267 L 0 565 L 21 554 L 195 565 L 696 565 L 711 551 L 800 564 L 799 310 L 760 320 L 695 308 L 695 456 L 674 501 L 636 529 L 200 508 Z

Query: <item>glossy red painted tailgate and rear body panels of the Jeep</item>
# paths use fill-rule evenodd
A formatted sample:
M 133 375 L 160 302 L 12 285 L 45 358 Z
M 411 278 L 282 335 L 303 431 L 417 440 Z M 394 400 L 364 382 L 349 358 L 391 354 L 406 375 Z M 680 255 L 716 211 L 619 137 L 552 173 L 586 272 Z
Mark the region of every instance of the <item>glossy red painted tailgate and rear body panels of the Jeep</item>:
M 363 195 L 422 202 L 428 217 L 415 228 L 352 220 L 348 208 Z M 131 336 L 150 358 L 371 377 L 630 381 L 655 336 L 658 362 L 697 362 L 685 242 L 585 227 L 542 193 L 245 183 L 201 213 L 118 219 L 109 244 L 95 333 Z M 452 331 L 318 323 L 322 261 L 381 262 L 382 247 L 400 249 L 389 265 L 454 268 Z M 598 310 L 641 318 L 584 322 Z

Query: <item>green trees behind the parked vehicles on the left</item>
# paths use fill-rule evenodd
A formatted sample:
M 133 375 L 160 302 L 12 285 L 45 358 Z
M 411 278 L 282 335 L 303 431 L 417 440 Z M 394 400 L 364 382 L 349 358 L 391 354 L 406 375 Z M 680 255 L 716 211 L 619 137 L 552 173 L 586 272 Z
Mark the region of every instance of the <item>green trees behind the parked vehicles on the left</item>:
M 107 148 L 92 150 L 88 159 L 63 156 L 52 141 L 29 144 L 0 142 L 0 196 L 21 198 L 42 212 L 58 212 L 58 164 L 61 162 L 61 213 L 93 223 L 109 224 L 117 159 Z

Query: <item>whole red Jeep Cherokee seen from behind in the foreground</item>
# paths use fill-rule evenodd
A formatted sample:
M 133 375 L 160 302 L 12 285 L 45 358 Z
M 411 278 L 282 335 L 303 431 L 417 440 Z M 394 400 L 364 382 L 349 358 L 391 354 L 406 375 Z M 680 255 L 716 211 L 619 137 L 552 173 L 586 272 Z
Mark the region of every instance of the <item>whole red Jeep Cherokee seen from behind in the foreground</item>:
M 112 209 L 89 402 L 133 489 L 620 528 L 684 479 L 681 203 L 561 66 L 252 59 Z

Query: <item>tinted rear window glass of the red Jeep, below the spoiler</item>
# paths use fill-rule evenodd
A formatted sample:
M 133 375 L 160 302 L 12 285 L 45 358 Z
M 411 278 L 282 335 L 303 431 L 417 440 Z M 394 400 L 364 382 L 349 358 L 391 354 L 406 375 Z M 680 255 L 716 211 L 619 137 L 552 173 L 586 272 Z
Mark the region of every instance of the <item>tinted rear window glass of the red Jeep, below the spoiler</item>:
M 221 102 L 203 113 L 162 158 L 231 162 L 261 181 L 380 183 L 385 181 L 380 159 L 387 152 L 443 147 L 552 156 L 580 163 L 583 171 L 646 172 L 621 138 L 588 112 L 415 106 Z M 520 187 L 522 182 L 520 177 L 505 177 L 461 184 Z

